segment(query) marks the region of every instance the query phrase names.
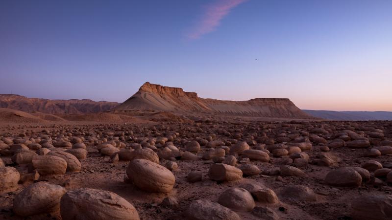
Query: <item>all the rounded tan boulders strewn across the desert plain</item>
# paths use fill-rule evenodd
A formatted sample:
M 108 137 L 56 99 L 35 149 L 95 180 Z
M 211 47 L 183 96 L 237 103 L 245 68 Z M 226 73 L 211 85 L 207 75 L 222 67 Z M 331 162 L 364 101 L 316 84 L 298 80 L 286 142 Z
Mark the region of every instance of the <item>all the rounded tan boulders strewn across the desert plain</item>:
M 26 187 L 15 198 L 13 211 L 23 217 L 60 212 L 62 219 L 139 219 L 134 206 L 112 192 L 64 187 L 42 182 L 42 177 L 78 173 L 90 154 L 109 158 L 113 164 L 126 161 L 125 181 L 146 193 L 175 194 L 180 163 L 203 161 L 204 172 L 186 174 L 189 184 L 200 181 L 236 182 L 216 200 L 196 199 L 183 211 L 194 220 L 241 219 L 249 212 L 257 218 L 279 219 L 260 203 L 280 200 L 316 202 L 319 195 L 309 186 L 287 184 L 279 191 L 262 184 L 240 184 L 246 177 L 276 176 L 276 179 L 309 177 L 311 166 L 330 169 L 322 184 L 359 187 L 392 183 L 392 166 L 377 158 L 391 159 L 392 140 L 385 134 L 391 122 L 297 122 L 227 123 L 196 122 L 182 125 L 96 125 L 47 128 L 40 132 L 3 133 L 0 136 L 0 191 Z M 360 152 L 360 165 L 345 166 L 336 149 Z M 88 151 L 89 150 L 89 151 Z M 349 154 L 349 153 L 348 153 Z M 371 157 L 371 158 L 368 158 Z M 357 199 L 357 198 L 355 198 Z M 367 216 L 353 200 L 352 216 Z M 362 198 L 369 207 L 392 218 L 388 196 Z M 378 202 L 382 205 L 374 204 Z M 175 197 L 162 205 L 179 208 Z M 386 208 L 387 207 L 387 208 Z M 380 212 L 381 212 L 380 211 Z M 77 216 L 77 217 L 76 217 Z M 380 217 L 380 218 L 381 218 Z M 369 218 L 371 219 L 371 218 Z M 382 218 L 381 218 L 382 219 Z

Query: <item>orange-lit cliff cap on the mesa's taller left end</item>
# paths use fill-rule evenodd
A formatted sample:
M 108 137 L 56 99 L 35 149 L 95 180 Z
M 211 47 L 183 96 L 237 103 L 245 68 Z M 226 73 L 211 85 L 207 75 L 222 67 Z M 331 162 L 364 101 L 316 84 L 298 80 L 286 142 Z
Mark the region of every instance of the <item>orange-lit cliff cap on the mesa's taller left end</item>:
M 146 82 L 139 88 L 139 92 L 148 92 L 160 95 L 175 95 L 175 96 L 188 96 L 190 98 L 197 99 L 196 92 L 185 92 L 182 88 L 176 87 L 165 87 L 158 84 L 151 84 Z

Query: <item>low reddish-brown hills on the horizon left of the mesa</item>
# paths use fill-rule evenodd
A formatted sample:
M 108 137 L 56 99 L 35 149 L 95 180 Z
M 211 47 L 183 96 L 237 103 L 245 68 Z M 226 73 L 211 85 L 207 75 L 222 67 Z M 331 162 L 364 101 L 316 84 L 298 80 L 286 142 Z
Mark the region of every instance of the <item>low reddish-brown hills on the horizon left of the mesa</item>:
M 117 102 L 95 102 L 90 99 L 49 100 L 27 98 L 21 95 L 0 94 L 0 108 L 22 110 L 25 112 L 43 112 L 50 114 L 80 114 L 111 110 Z

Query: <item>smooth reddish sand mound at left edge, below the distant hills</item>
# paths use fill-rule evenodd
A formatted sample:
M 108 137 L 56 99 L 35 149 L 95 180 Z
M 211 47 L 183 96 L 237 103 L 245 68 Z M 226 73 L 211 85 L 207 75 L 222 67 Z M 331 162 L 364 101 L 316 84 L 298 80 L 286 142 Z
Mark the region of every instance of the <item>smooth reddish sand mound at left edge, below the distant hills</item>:
M 0 108 L 0 121 L 2 122 L 43 122 L 44 120 L 24 111 Z

